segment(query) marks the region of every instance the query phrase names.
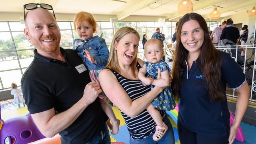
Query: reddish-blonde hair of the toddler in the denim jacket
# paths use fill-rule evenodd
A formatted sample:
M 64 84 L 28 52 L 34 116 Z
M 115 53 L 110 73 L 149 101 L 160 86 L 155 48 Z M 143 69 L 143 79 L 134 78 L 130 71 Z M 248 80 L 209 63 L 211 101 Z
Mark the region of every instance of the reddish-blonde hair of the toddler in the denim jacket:
M 93 18 L 93 15 L 91 15 L 91 13 L 87 13 L 85 11 L 81 11 L 81 12 L 79 12 L 75 15 L 75 17 L 74 17 L 74 30 L 76 31 L 76 25 L 82 24 L 82 22 L 85 21 L 85 20 L 93 26 L 93 31 L 95 32 L 96 27 L 97 27 L 97 22 Z

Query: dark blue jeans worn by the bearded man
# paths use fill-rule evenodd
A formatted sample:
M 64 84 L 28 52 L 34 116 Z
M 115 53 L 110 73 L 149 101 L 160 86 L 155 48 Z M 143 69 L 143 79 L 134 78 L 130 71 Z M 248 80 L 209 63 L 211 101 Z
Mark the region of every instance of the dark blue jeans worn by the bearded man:
M 108 131 L 107 124 L 104 125 L 100 133 L 93 137 L 89 142 L 86 144 L 110 144 L 110 136 Z

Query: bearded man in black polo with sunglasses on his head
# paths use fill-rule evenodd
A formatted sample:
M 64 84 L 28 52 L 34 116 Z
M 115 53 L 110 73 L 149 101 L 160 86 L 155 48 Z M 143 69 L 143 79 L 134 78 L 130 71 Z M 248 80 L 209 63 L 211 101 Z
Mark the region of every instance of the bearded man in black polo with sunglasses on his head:
M 36 48 L 21 80 L 28 111 L 41 133 L 59 133 L 61 144 L 110 144 L 108 118 L 97 99 L 102 91 L 76 51 L 60 47 L 52 6 L 46 6 L 24 5 L 24 33 Z

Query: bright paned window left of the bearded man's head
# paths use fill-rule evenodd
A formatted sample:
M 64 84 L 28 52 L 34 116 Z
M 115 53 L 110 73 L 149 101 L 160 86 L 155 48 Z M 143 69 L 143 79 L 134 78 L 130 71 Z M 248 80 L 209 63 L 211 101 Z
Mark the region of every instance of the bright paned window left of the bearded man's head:
M 23 70 L 33 59 L 32 43 L 23 33 L 20 22 L 0 22 L 0 89 L 20 85 Z

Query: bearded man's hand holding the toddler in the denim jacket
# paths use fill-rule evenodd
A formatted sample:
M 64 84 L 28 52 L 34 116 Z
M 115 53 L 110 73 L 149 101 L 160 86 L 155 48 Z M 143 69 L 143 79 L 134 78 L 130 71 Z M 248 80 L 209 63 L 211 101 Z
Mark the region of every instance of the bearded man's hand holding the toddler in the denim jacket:
M 95 81 L 92 81 L 85 86 L 82 99 L 85 103 L 91 104 L 96 100 L 101 92 L 102 90 L 98 84 Z

